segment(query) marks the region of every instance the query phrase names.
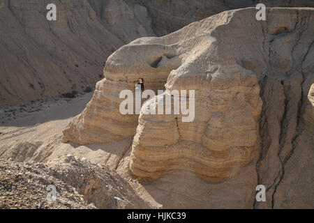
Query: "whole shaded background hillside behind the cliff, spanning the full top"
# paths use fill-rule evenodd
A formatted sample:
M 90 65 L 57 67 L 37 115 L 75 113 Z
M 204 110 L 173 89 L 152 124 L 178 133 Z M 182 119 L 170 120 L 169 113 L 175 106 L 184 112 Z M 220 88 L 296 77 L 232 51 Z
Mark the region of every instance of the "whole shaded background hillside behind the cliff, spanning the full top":
M 94 87 L 107 57 L 122 45 L 258 2 L 314 7 L 311 0 L 1 0 L 0 106 Z M 48 3 L 56 4 L 57 21 L 46 20 Z

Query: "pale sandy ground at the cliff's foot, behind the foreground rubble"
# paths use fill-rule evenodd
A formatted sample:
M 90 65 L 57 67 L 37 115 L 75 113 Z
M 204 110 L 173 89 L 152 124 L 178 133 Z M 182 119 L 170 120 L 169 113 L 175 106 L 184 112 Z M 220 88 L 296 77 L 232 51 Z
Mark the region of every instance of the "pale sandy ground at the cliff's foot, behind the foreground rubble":
M 125 148 L 125 145 L 129 146 L 132 142 L 131 139 L 111 144 L 91 144 L 87 146 L 75 143 L 66 144 L 61 141 L 62 131 L 74 116 L 82 112 L 87 102 L 91 100 L 92 95 L 93 93 L 85 93 L 74 99 L 58 98 L 57 102 L 52 100 L 23 106 L 24 110 L 33 112 L 24 112 L 24 110 L 20 112 L 20 106 L 1 109 L 1 114 L 4 116 L 1 121 L 6 121 L 0 127 L 1 158 L 10 157 L 11 160 L 16 162 L 34 161 L 45 163 L 51 160 L 55 162 L 55 159 L 60 156 L 76 155 L 81 159 L 87 158 L 94 164 L 107 164 L 115 170 L 125 168 L 121 166 L 121 160 L 128 158 L 128 154 L 124 154 L 125 151 L 121 148 Z M 15 109 L 15 115 L 13 115 L 13 112 L 5 112 L 14 111 Z M 15 118 L 8 120 L 7 117 L 10 114 Z M 139 183 L 130 174 L 124 174 L 124 178 L 151 205 L 151 208 L 218 208 L 210 202 L 211 193 L 218 192 L 220 195 L 215 193 L 214 196 L 219 197 L 228 192 L 228 190 L 220 191 L 218 185 L 208 183 L 193 176 L 193 174 L 184 173 L 184 171 L 181 173 L 180 171 L 174 172 L 153 184 L 149 182 Z M 233 183 L 228 183 L 231 184 L 230 192 L 232 192 Z M 177 191 L 178 188 L 181 188 L 181 191 Z M 45 196 L 45 194 L 41 196 Z M 36 196 L 34 199 L 36 199 Z M 158 201 L 165 203 L 162 205 Z M 227 203 L 230 203 L 230 199 L 225 200 L 226 205 Z M 31 207 L 29 206 L 29 208 Z M 77 208 L 82 207 L 86 208 L 86 206 L 77 206 Z M 232 206 L 230 207 L 232 208 Z M 33 206 L 33 208 L 38 207 Z M 44 206 L 41 208 L 44 208 Z M 45 208 L 67 207 L 46 205 Z M 72 206 L 72 208 L 75 208 L 75 206 Z M 92 208 L 92 206 L 88 208 Z

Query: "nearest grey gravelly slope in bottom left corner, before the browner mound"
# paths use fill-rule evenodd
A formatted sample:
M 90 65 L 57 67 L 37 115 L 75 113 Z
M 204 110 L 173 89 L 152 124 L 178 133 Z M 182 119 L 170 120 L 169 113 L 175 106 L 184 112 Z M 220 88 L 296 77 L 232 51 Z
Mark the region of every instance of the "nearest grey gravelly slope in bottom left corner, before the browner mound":
M 47 174 L 44 164 L 33 162 L 19 163 L 12 160 L 0 160 L 0 208 L 1 209 L 86 209 L 96 208 L 88 204 L 75 187 L 65 185 L 61 180 Z M 56 189 L 56 201 L 47 201 L 53 184 Z

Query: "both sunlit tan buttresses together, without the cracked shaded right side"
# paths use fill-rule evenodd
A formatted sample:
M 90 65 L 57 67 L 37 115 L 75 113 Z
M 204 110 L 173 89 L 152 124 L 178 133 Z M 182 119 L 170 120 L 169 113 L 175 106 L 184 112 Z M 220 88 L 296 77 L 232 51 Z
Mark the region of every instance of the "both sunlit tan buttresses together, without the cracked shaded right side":
M 172 169 L 186 169 L 214 181 L 233 176 L 253 159 L 262 101 L 256 75 L 234 59 L 225 60 L 225 54 L 220 55 L 223 45 L 210 37 L 214 31 L 219 35 L 220 25 L 229 24 L 230 13 L 164 38 L 140 38 L 121 47 L 106 62 L 105 79 L 63 132 L 63 141 L 93 144 L 134 135 L 137 116 L 119 113 L 118 96 L 123 89 L 134 91 L 135 81 L 142 77 L 145 89 L 157 91 L 163 84 L 169 90 L 194 89 L 195 120 L 183 123 L 177 115 L 141 115 L 133 140 L 133 174 L 158 178 Z M 212 48 L 216 52 L 209 53 Z

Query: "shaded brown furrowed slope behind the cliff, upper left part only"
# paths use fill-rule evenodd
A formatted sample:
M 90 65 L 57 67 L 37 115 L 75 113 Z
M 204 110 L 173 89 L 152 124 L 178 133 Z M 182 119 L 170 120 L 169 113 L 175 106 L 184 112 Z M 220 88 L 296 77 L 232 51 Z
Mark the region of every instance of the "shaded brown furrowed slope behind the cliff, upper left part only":
M 115 2 L 98 15 L 86 0 L 1 0 L 0 105 L 94 86 L 107 56 L 130 40 L 154 36 L 144 7 L 135 17 L 133 8 Z M 46 19 L 48 3 L 56 4 L 57 21 Z

